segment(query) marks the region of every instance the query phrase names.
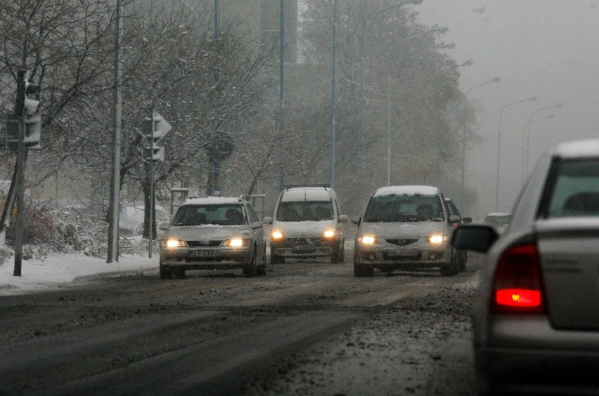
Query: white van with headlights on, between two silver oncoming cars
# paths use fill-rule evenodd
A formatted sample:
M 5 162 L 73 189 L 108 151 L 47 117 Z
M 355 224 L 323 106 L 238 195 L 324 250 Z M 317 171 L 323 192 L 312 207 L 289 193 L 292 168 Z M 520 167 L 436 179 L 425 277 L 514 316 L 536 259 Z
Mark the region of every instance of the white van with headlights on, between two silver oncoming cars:
M 278 197 L 272 224 L 271 264 L 285 263 L 285 258 L 330 257 L 331 263 L 342 263 L 345 236 L 340 223 L 337 194 L 328 185 L 285 186 Z

